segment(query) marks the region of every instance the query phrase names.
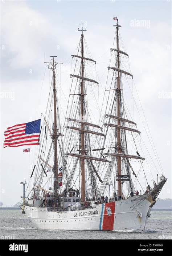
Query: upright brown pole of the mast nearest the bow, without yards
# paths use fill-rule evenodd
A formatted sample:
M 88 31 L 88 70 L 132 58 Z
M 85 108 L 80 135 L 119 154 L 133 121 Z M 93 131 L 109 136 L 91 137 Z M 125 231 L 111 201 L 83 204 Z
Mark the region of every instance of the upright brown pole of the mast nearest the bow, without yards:
M 119 25 L 118 25 L 118 19 L 116 23 L 116 49 L 119 50 Z M 120 63 L 119 63 L 119 52 L 117 52 L 117 67 L 120 69 Z M 118 71 L 118 77 L 117 77 L 117 117 L 120 117 L 120 95 L 121 95 L 121 89 L 120 89 L 120 74 Z M 117 119 L 117 124 L 120 125 L 120 119 Z M 117 128 L 117 151 L 118 153 L 121 153 L 121 139 L 120 139 L 120 128 Z M 118 163 L 118 175 L 120 177 L 121 175 L 121 157 L 117 157 L 117 163 Z M 122 181 L 118 180 L 118 196 L 122 196 Z

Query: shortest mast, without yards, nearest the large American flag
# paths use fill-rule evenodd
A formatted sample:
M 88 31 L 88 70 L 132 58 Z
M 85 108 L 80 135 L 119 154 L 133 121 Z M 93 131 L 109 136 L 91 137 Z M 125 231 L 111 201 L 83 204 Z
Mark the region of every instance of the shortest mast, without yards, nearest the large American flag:
M 50 69 L 53 71 L 53 108 L 54 108 L 54 123 L 53 123 L 53 141 L 54 141 L 54 194 L 57 198 L 58 188 L 58 157 L 57 157 L 57 98 L 56 98 L 56 74 L 55 68 L 60 62 L 54 61 L 54 57 L 50 62 L 45 62 L 51 65 Z

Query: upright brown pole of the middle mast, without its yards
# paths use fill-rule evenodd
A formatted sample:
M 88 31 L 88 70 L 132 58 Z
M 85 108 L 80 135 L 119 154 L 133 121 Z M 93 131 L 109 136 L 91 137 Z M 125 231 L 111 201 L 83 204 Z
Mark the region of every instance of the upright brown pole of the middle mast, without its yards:
M 86 29 L 78 29 L 81 31 L 81 76 L 84 77 L 83 71 L 83 31 L 87 31 Z M 84 121 L 84 82 L 81 79 L 81 121 Z M 83 122 L 81 123 L 81 129 L 84 129 Z M 84 132 L 81 131 L 81 155 L 85 155 L 85 147 L 84 147 Z M 85 201 L 85 159 L 81 158 L 81 187 L 82 187 L 82 194 L 81 194 L 81 201 Z

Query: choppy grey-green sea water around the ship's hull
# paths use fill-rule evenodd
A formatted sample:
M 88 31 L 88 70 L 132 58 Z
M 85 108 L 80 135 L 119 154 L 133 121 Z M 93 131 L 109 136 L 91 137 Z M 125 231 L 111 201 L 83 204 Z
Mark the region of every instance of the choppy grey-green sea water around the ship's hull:
M 0 209 L 0 239 L 172 239 L 172 211 L 152 210 L 145 231 L 42 231 L 21 210 Z

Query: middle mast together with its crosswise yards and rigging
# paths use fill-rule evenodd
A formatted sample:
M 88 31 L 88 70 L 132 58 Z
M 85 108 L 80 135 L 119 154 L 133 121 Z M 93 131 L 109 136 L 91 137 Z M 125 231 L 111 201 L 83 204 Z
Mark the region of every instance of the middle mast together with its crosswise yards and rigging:
M 81 168 L 81 201 L 84 202 L 85 201 L 85 165 L 87 165 L 88 170 L 89 170 L 89 175 L 90 175 L 90 194 L 88 196 L 87 194 L 87 198 L 93 198 L 96 197 L 98 198 L 99 195 L 99 191 L 97 188 L 97 183 L 95 181 L 95 175 L 99 178 L 99 180 L 101 180 L 101 178 L 99 177 L 97 170 L 94 167 L 94 164 L 92 161 L 103 161 L 103 162 L 109 162 L 107 159 L 105 158 L 101 158 L 101 157 L 94 157 L 91 154 L 91 146 L 90 146 L 90 134 L 94 134 L 94 135 L 98 135 L 98 136 L 105 136 L 105 134 L 101 133 L 101 132 L 97 132 L 94 130 L 94 128 L 98 128 L 101 129 L 102 131 L 102 127 L 90 123 L 87 120 L 87 103 L 85 101 L 86 98 L 86 90 L 85 90 L 85 86 L 87 84 L 90 83 L 97 83 L 97 81 L 87 78 L 85 77 L 85 62 L 93 62 L 96 63 L 95 60 L 87 58 L 84 56 L 84 47 L 83 47 L 83 32 L 86 31 L 86 29 L 78 29 L 78 31 L 81 31 L 81 39 L 80 39 L 80 44 L 79 44 L 79 49 L 81 49 L 81 54 L 77 54 L 77 55 L 72 55 L 72 58 L 77 58 L 77 61 L 80 62 L 80 69 L 79 69 L 79 74 L 70 74 L 70 77 L 72 78 L 77 78 L 77 83 L 79 83 L 79 88 L 78 88 L 78 94 L 74 94 L 77 95 L 78 99 L 78 104 L 77 104 L 77 117 L 76 117 L 76 113 L 73 115 L 73 118 L 69 117 L 67 118 L 67 121 L 70 122 L 70 126 L 66 126 L 66 129 L 71 129 L 74 131 L 79 131 L 79 140 L 77 138 L 77 142 L 75 143 L 75 145 L 72 147 L 70 153 L 65 153 L 68 156 L 71 157 L 77 157 L 79 158 L 79 164 L 80 164 L 80 168 Z M 79 52 L 79 50 L 78 50 Z M 78 119 L 76 119 L 78 118 Z M 72 123 L 71 123 L 72 122 Z M 90 128 L 92 127 L 92 129 Z M 71 137 L 72 138 L 72 133 L 71 133 Z M 70 143 L 70 141 L 69 141 Z M 69 145 L 70 146 L 70 145 Z M 78 146 L 79 146 L 79 150 L 78 150 Z M 67 146 L 68 147 L 68 146 Z M 77 154 L 76 151 L 79 151 L 79 153 Z

